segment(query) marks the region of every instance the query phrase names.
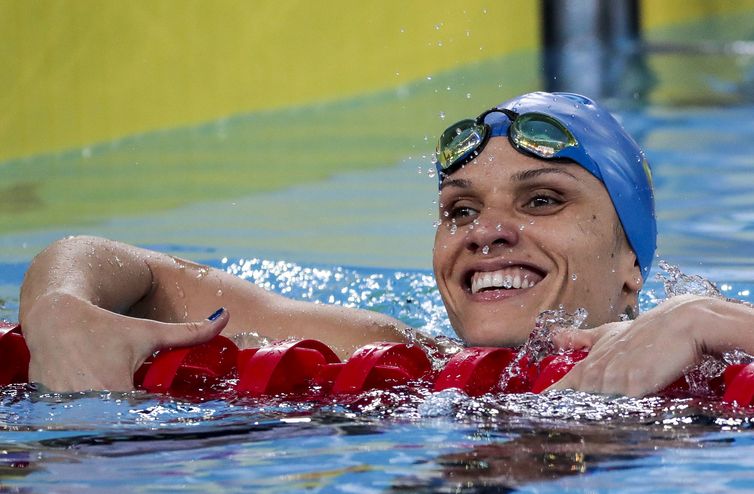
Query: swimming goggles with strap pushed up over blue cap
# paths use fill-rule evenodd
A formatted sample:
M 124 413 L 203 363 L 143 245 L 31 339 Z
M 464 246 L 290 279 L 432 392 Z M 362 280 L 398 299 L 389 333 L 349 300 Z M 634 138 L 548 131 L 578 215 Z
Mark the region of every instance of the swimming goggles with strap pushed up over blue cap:
M 442 133 L 436 150 L 440 181 L 476 158 L 490 137 L 503 135 L 520 151 L 544 159 L 576 161 L 602 180 L 599 169 L 559 120 L 539 112 L 518 114 L 507 108 L 492 108 L 475 119 L 461 120 Z

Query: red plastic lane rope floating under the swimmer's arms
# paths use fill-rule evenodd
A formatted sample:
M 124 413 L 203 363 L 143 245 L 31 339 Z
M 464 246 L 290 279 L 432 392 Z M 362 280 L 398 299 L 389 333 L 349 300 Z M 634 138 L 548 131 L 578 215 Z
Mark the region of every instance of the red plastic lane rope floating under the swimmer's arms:
M 416 345 L 378 342 L 359 348 L 345 362 L 317 340 L 278 341 L 239 350 L 217 336 L 194 347 L 158 352 L 134 376 L 137 387 L 153 393 L 199 396 L 226 383 L 226 391 L 250 396 L 299 394 L 302 397 L 354 395 L 370 389 L 413 384 L 434 391 L 456 388 L 469 396 L 486 393 L 540 393 L 586 357 L 582 351 L 551 355 L 538 363 L 510 348 L 464 348 L 439 371 Z M 0 322 L 0 385 L 28 381 L 29 350 L 18 324 Z M 689 396 L 683 378 L 663 390 Z M 705 397 L 750 406 L 754 402 L 754 364 L 730 365 L 722 379 L 708 382 Z

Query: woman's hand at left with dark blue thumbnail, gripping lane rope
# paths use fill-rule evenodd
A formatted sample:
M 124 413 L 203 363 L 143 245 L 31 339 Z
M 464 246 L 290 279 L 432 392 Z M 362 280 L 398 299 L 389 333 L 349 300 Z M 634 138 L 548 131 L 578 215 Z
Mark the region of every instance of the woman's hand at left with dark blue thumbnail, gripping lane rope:
M 73 295 L 47 294 L 22 320 L 29 379 L 52 391 L 132 390 L 134 373 L 152 353 L 203 343 L 229 317 L 223 310 L 211 321 L 164 323 L 117 314 Z

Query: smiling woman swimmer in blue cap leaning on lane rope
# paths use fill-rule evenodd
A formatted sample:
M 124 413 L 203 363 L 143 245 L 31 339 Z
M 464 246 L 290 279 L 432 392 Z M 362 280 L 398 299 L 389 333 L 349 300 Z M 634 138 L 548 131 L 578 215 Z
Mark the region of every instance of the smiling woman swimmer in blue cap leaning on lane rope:
M 521 345 L 541 311 L 583 307 L 591 329 L 555 341 L 589 356 L 553 388 L 630 396 L 664 388 L 704 354 L 754 354 L 754 309 L 742 304 L 679 296 L 635 317 L 656 245 L 651 172 L 594 101 L 530 93 L 458 122 L 440 138 L 438 169 L 433 268 L 467 344 Z M 290 300 L 95 237 L 41 252 L 20 298 L 29 377 L 56 391 L 133 389 L 154 351 L 221 332 L 315 338 L 341 356 L 409 338 L 386 315 Z

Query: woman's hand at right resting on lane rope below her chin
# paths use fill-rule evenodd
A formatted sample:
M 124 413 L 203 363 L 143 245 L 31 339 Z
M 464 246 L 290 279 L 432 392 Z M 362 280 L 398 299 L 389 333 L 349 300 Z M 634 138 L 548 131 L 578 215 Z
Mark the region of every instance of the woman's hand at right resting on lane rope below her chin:
M 740 304 L 683 295 L 634 321 L 563 330 L 554 339 L 589 355 L 548 389 L 645 396 L 670 385 L 705 353 L 751 352 L 754 315 Z

